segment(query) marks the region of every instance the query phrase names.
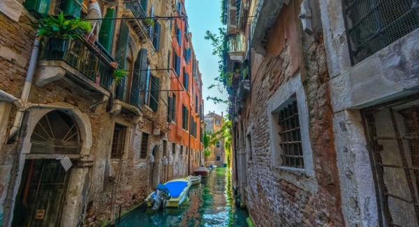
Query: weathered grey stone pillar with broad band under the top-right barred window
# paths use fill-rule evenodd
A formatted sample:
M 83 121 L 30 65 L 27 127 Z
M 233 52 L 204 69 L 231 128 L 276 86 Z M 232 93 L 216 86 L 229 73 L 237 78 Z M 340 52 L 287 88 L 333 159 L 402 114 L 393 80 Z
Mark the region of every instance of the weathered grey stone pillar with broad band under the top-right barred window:
M 418 29 L 351 66 L 341 2 L 320 1 L 342 212 L 346 226 L 378 226 L 372 167 L 358 109 L 407 96 L 419 85 Z

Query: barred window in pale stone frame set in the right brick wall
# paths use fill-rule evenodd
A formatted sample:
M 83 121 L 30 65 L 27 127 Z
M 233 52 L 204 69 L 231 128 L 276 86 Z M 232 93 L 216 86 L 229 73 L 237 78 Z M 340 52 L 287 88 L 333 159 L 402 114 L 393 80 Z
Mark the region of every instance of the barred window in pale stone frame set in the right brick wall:
M 282 166 L 304 168 L 297 101 L 279 111 L 278 124 Z

